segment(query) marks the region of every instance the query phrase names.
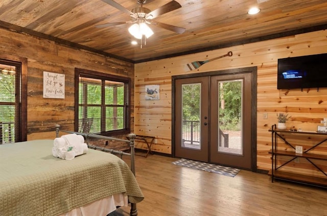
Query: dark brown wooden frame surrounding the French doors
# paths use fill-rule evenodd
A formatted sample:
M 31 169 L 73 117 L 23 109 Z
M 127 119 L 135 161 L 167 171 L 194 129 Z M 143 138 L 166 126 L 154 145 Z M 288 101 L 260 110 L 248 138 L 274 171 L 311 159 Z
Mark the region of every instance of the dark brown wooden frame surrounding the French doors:
M 256 122 L 257 122 L 257 70 L 255 67 L 244 67 L 244 68 L 235 68 L 235 69 L 226 69 L 226 70 L 216 70 L 209 71 L 204 73 L 195 73 L 195 74 L 185 74 L 185 75 L 177 75 L 172 76 L 172 157 L 175 157 L 175 90 L 176 90 L 176 79 L 184 79 L 184 78 L 194 78 L 194 77 L 203 77 L 203 76 L 219 76 L 219 75 L 232 75 L 232 74 L 243 74 L 250 73 L 251 74 L 251 171 L 257 171 L 257 155 L 256 155 Z M 210 112 L 209 112 L 210 113 Z M 210 118 L 209 118 L 210 119 Z M 210 131 L 209 131 L 210 133 Z M 209 142 L 210 148 L 211 143 Z M 209 155 L 208 155 L 209 157 Z

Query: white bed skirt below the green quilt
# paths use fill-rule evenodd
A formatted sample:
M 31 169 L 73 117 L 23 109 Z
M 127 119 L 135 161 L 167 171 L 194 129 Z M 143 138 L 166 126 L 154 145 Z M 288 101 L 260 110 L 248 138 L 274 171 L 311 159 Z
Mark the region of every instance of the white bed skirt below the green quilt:
M 103 215 L 116 210 L 116 206 L 127 206 L 128 197 L 124 194 L 114 194 L 100 200 L 96 200 L 87 205 L 74 208 L 66 213 L 59 214 L 58 216 L 94 216 Z

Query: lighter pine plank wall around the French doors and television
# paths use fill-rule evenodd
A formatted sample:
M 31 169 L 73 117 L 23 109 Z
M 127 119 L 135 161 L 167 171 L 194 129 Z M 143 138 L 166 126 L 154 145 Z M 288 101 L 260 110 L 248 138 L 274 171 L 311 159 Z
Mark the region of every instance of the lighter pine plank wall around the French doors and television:
M 145 47 L 146 49 L 146 47 Z M 185 65 L 203 61 L 232 51 L 232 57 L 206 63 L 196 71 L 188 71 Z M 172 76 L 207 71 L 258 67 L 258 169 L 269 170 L 271 157 L 271 133 L 268 129 L 277 121 L 276 113 L 287 112 L 292 116 L 288 127 L 315 131 L 323 117 L 327 117 L 327 88 L 277 90 L 277 59 L 326 53 L 327 31 L 317 31 L 267 41 L 249 43 L 208 51 L 135 64 L 135 133 L 156 137 L 153 151 L 172 152 Z M 160 85 L 160 100 L 145 100 L 145 85 Z M 264 113 L 268 118 L 264 119 Z M 303 139 L 302 139 L 303 140 Z M 137 143 L 138 148 L 145 148 Z M 327 152 L 324 144 L 320 149 Z M 306 167 L 304 167 L 306 169 Z M 312 171 L 300 171 L 312 172 Z

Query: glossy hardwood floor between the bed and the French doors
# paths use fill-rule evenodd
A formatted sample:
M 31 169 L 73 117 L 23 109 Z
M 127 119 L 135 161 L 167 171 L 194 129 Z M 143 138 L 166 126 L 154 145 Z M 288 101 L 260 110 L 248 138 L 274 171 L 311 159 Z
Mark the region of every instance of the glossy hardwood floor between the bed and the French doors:
M 172 164 L 177 159 L 135 157 L 136 178 L 145 196 L 137 204 L 139 216 L 327 215 L 325 189 L 271 183 L 268 175 L 243 170 L 228 177 Z M 123 210 L 128 215 L 129 209 Z

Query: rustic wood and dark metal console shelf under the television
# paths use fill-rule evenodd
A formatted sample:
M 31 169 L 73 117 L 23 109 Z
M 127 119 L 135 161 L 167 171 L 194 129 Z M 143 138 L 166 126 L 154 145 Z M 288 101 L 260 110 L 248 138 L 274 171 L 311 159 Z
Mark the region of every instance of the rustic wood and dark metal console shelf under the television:
M 314 150 L 316 147 L 322 145 L 325 141 L 327 141 L 327 134 L 326 133 L 318 133 L 318 132 L 312 132 L 312 131 L 287 131 L 287 130 L 276 130 L 276 125 L 272 125 L 271 129 L 269 129 L 271 132 L 271 150 L 268 152 L 272 156 L 271 161 L 271 170 L 269 171 L 268 175 L 271 176 L 271 182 L 273 182 L 274 179 L 282 179 L 287 180 L 291 182 L 298 182 L 303 184 L 309 184 L 309 185 L 315 185 L 319 187 L 327 188 L 327 173 L 326 171 L 322 170 L 319 165 L 317 165 L 316 161 L 313 160 L 320 160 L 320 161 L 327 161 L 327 155 L 323 154 L 313 154 L 310 153 L 312 150 Z M 307 149 L 306 151 L 302 152 L 301 154 L 296 153 L 295 149 L 296 146 L 289 141 L 286 140 L 285 136 L 283 134 L 290 134 L 292 136 L 320 136 L 321 139 L 319 139 L 319 142 L 315 143 L 312 147 Z M 278 149 L 278 143 L 277 138 L 281 138 L 285 144 L 288 147 L 291 147 L 292 151 L 285 151 L 285 150 L 279 150 Z M 302 136 L 299 137 L 299 139 L 302 139 Z M 299 145 L 300 146 L 300 145 Z M 284 163 L 283 164 L 277 164 L 277 157 L 284 156 Z M 309 176 L 309 175 L 303 175 L 303 174 L 297 174 L 293 172 L 283 171 L 283 166 L 287 165 L 291 161 L 294 161 L 297 158 L 305 158 L 307 161 L 309 161 L 316 169 L 318 169 L 324 176 Z

